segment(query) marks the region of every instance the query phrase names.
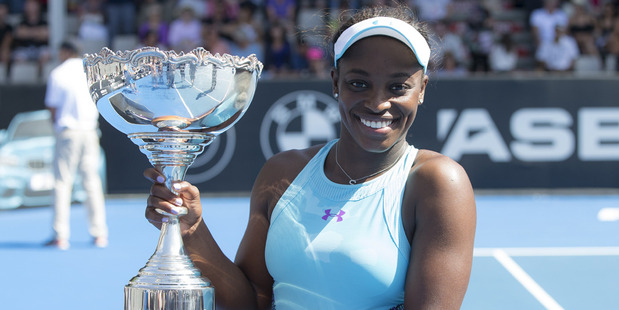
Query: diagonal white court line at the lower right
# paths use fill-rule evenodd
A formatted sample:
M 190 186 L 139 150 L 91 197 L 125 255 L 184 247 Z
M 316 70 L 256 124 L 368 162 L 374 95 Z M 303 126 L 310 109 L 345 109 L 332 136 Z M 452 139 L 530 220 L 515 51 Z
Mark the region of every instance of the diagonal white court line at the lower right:
M 524 286 L 546 309 L 548 310 L 563 310 L 563 307 L 557 303 L 546 291 L 533 280 L 505 251 L 495 249 L 493 252 L 494 258 L 509 271 L 509 273 Z

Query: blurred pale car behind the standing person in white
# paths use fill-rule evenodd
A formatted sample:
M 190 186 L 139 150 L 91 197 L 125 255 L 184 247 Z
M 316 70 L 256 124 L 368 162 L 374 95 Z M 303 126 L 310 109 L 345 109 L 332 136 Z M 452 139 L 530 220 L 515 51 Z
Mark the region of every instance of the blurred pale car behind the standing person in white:
M 48 110 L 18 113 L 0 130 L 0 209 L 46 206 L 53 203 L 54 131 Z M 105 155 L 101 149 L 101 179 L 106 184 Z M 73 200 L 86 193 L 76 176 Z

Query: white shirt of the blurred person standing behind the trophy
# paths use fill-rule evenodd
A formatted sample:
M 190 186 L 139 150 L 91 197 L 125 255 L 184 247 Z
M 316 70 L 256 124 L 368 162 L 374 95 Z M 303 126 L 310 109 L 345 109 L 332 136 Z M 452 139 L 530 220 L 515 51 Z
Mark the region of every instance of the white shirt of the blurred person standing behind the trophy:
M 56 109 L 56 131 L 97 128 L 99 111 L 90 97 L 80 58 L 67 59 L 52 70 L 45 92 L 45 106 Z

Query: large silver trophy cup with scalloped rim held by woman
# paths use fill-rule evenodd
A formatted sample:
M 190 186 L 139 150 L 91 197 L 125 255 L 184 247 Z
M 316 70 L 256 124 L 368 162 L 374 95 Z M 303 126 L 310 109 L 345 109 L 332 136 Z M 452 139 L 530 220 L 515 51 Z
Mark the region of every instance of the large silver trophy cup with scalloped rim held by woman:
M 84 56 L 97 109 L 165 177 L 182 181 L 204 148 L 247 111 L 262 71 L 254 55 L 177 54 L 144 47 Z M 155 253 L 125 286 L 125 310 L 214 309 L 215 292 L 185 253 L 178 216 L 164 213 Z

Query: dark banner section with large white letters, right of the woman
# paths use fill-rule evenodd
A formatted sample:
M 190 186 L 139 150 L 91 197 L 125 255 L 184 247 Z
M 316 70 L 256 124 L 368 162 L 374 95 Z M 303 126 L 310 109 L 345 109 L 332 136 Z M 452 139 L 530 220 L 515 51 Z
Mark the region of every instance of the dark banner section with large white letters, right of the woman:
M 408 140 L 460 162 L 475 188 L 619 186 L 619 80 L 431 82 Z

